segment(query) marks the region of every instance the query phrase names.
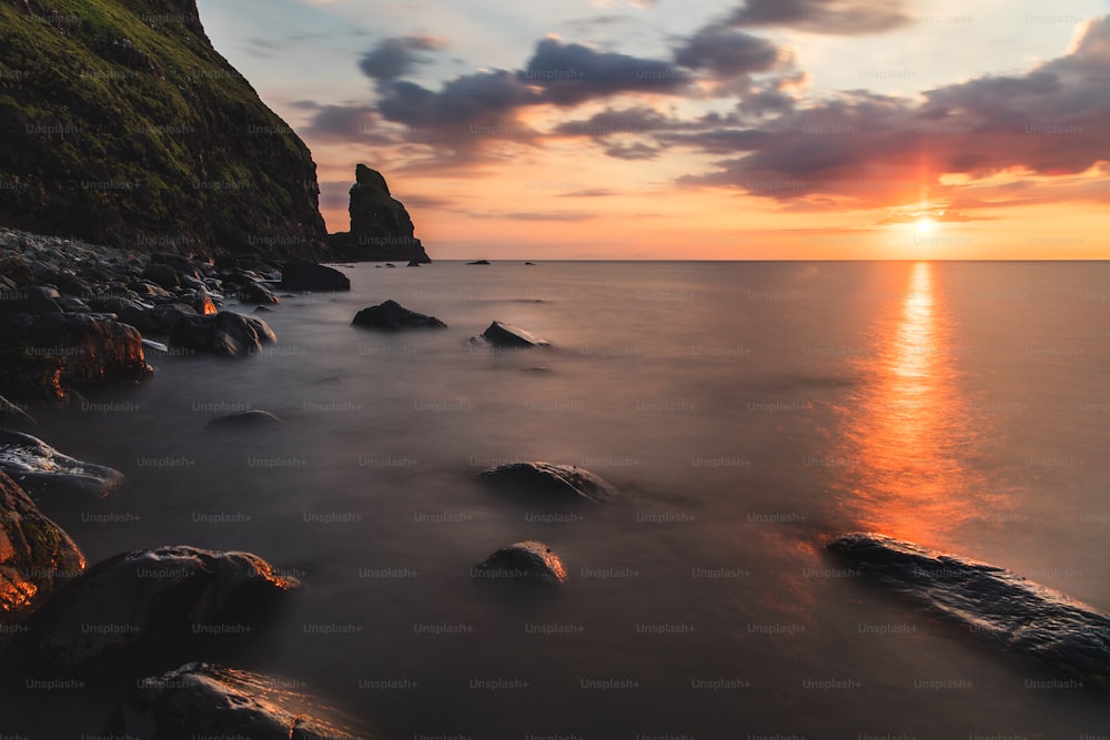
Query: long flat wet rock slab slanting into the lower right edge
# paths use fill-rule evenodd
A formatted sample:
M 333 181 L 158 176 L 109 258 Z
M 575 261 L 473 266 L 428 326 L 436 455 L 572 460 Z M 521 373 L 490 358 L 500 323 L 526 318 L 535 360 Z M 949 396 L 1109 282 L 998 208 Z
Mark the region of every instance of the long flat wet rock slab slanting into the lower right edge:
M 1110 680 L 1110 616 L 1016 572 L 874 533 L 828 548 L 851 568 L 978 638 L 1068 677 Z

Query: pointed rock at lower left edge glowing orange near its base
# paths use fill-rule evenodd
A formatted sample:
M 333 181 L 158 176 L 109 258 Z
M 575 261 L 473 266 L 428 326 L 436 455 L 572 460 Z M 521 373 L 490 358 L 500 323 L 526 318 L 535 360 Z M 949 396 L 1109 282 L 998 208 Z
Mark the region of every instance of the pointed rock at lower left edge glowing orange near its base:
M 11 625 L 84 569 L 84 556 L 6 473 L 0 472 L 0 625 Z

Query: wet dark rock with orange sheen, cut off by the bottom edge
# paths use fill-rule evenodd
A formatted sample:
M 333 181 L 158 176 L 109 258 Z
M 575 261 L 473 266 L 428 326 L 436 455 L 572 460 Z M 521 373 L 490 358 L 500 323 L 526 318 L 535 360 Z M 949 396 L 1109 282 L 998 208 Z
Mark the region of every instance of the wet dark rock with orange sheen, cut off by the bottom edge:
M 320 699 L 280 688 L 289 679 L 193 662 L 137 682 L 104 730 L 112 738 L 369 740 Z M 294 683 L 295 685 L 295 683 Z

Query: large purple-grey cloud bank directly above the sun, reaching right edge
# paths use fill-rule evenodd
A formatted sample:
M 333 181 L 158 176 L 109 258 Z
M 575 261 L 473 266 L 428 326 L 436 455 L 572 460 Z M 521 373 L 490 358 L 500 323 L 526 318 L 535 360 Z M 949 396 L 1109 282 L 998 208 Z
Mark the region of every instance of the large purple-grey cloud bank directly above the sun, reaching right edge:
M 881 206 L 961 197 L 999 173 L 1076 175 L 1110 162 L 1110 19 L 1088 23 L 1062 58 L 1023 75 L 985 77 L 924 93 L 924 102 L 841 93 L 755 130 L 722 129 L 684 140 L 735 158 L 688 184 L 746 190 L 833 206 Z M 672 138 L 674 141 L 674 138 Z M 953 183 L 951 178 L 963 181 Z

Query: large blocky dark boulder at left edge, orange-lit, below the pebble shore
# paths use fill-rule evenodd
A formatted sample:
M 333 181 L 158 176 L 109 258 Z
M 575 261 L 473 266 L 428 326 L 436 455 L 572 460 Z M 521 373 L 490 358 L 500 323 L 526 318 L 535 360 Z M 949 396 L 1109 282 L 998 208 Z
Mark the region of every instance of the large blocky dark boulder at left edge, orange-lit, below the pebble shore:
M 0 317 L 0 387 L 14 396 L 61 399 L 71 387 L 152 372 L 133 326 L 88 314 Z

